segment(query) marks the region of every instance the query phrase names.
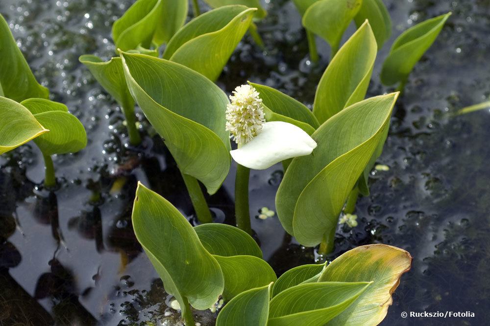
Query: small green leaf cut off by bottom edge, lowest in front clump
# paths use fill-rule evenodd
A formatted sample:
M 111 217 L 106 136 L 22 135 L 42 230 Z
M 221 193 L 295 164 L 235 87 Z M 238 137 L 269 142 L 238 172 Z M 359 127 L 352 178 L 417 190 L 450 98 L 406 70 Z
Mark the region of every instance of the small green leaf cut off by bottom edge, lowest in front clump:
M 271 284 L 240 293 L 220 311 L 216 326 L 266 326 Z

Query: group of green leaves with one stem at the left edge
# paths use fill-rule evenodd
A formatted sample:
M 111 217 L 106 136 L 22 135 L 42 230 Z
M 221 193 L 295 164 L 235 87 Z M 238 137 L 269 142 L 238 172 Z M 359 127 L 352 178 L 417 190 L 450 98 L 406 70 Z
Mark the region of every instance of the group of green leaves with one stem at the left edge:
M 0 56 L 0 154 L 34 140 L 43 153 L 44 183 L 53 187 L 56 177 L 51 155 L 85 148 L 85 129 L 65 105 L 47 99 L 48 88 L 37 83 L 1 15 Z

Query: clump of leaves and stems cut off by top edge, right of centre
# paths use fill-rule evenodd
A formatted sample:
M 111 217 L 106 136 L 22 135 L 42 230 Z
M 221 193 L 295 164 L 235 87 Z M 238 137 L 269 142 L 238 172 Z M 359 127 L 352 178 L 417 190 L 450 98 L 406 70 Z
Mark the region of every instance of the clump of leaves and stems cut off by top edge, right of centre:
M 357 27 L 369 21 L 379 49 L 390 38 L 392 23 L 382 0 L 294 0 L 294 4 L 302 16 L 313 62 L 319 60 L 315 34 L 330 44 L 333 58 L 352 20 Z

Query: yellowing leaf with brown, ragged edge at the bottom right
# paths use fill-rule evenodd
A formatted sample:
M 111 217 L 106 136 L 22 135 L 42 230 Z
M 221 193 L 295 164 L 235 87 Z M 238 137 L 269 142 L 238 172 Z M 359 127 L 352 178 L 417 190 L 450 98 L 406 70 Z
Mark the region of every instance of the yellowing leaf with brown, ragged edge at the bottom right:
M 319 282 L 373 282 L 361 296 L 328 325 L 378 325 L 392 304 L 400 277 L 410 269 L 412 257 L 405 250 L 370 244 L 347 251 L 332 261 Z

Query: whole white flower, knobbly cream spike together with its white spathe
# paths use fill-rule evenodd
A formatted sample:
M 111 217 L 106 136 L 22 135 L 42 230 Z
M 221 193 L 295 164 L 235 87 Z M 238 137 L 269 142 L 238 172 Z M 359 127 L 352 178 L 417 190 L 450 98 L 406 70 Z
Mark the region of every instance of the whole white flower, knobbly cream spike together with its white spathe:
M 250 85 L 235 88 L 226 109 L 226 130 L 238 144 L 233 159 L 250 169 L 264 170 L 288 158 L 309 155 L 317 143 L 299 127 L 265 122 L 264 105 Z

